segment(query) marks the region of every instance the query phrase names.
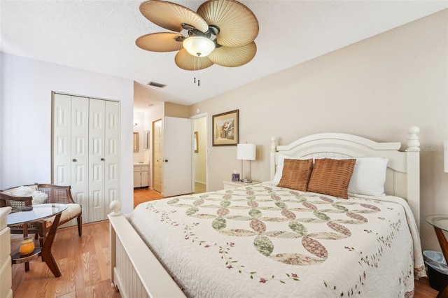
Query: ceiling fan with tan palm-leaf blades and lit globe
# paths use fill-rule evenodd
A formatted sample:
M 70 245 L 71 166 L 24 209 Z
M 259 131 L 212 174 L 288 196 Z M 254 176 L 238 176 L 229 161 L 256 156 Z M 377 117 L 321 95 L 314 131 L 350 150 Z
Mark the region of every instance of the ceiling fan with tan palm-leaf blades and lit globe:
M 176 3 L 148 0 L 141 3 L 140 12 L 154 24 L 179 33 L 146 34 L 137 38 L 137 46 L 152 52 L 179 50 L 174 61 L 181 69 L 241 66 L 257 52 L 253 40 L 258 35 L 258 20 L 238 1 L 209 0 L 195 13 Z

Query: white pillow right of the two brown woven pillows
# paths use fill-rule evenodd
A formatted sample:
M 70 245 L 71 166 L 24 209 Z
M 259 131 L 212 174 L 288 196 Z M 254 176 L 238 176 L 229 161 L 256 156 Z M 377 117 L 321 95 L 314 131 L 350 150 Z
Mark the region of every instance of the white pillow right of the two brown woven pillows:
M 386 195 L 387 162 L 388 159 L 383 157 L 357 157 L 348 192 L 375 197 Z

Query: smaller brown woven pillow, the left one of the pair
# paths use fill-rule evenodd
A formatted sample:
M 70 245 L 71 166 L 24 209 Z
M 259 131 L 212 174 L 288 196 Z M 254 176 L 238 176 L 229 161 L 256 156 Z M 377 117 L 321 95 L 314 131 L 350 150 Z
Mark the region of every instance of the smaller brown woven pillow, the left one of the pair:
M 306 192 L 312 169 L 313 159 L 285 159 L 281 179 L 277 186 Z

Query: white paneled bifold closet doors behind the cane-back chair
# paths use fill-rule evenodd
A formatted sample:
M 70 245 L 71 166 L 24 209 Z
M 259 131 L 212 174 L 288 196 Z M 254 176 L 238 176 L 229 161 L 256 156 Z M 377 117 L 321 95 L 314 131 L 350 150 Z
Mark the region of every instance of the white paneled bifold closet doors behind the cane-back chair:
M 83 222 L 106 220 L 120 199 L 120 103 L 53 93 L 52 183 L 71 185 Z

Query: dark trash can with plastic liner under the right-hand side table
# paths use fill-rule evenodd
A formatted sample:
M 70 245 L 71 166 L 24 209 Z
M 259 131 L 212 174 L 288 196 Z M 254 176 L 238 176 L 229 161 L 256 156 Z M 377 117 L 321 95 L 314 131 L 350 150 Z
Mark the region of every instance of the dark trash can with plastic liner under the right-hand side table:
M 448 266 L 440 251 L 423 251 L 423 260 L 428 266 L 428 278 L 431 288 L 440 291 L 448 283 Z

